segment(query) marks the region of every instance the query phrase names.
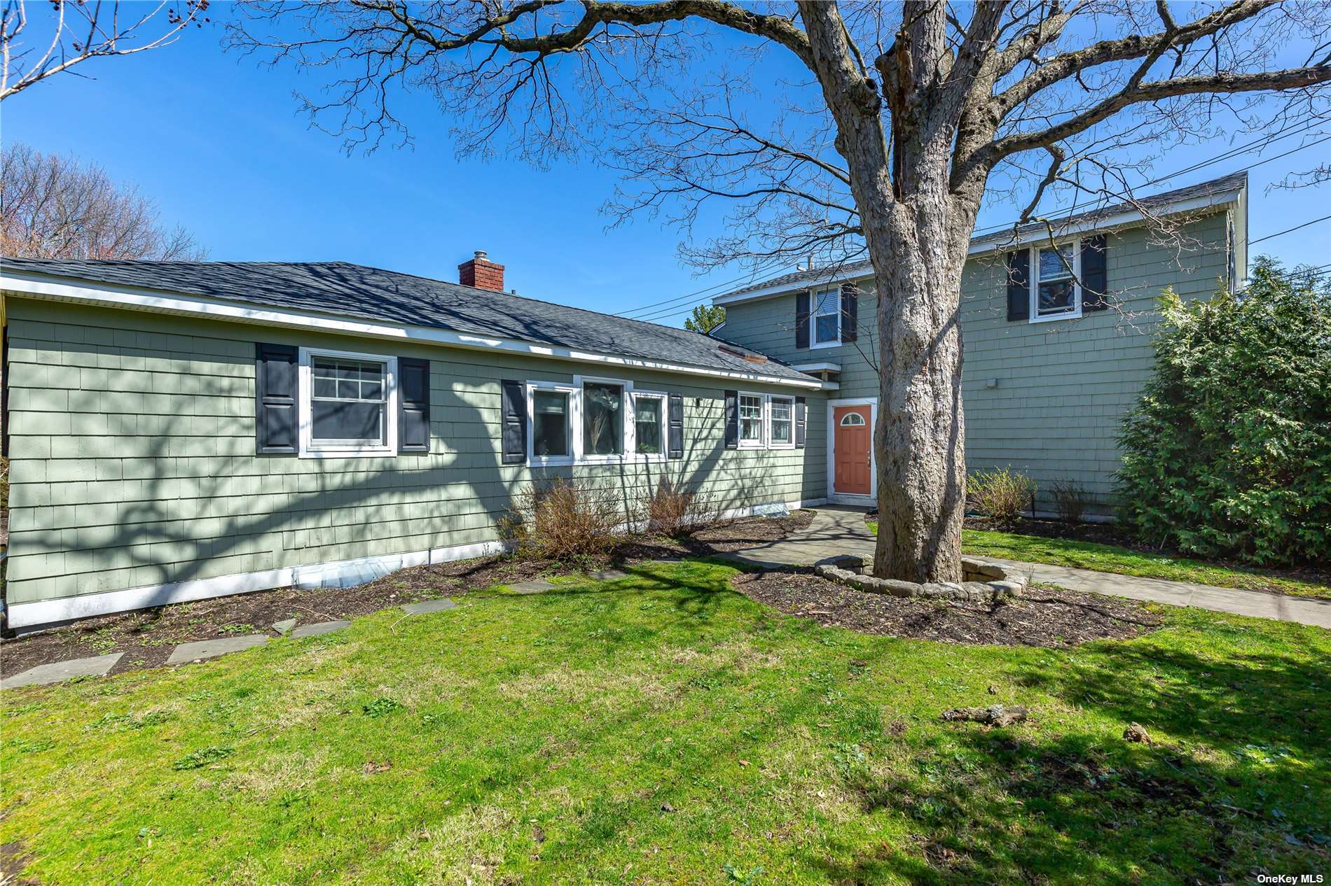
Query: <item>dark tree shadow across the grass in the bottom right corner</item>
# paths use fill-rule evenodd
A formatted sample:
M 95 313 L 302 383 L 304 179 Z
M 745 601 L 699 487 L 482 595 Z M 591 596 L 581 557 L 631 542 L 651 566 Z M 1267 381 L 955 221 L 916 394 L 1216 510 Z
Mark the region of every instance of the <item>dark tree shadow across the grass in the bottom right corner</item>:
M 1225 661 L 1113 644 L 1097 666 L 1020 680 L 1121 722 L 1235 754 L 1139 745 L 1055 724 L 957 726 L 889 776 L 847 773 L 865 813 L 912 843 L 823 859 L 836 882 L 1222 883 L 1323 871 L 1331 849 L 1327 674 L 1279 655 Z M 1167 674 L 1167 684 L 1157 677 Z M 1038 726 L 1045 725 L 1045 729 Z M 960 745 L 960 746 L 958 746 Z M 913 769 L 913 772 L 912 772 Z M 845 847 L 852 849 L 852 847 Z

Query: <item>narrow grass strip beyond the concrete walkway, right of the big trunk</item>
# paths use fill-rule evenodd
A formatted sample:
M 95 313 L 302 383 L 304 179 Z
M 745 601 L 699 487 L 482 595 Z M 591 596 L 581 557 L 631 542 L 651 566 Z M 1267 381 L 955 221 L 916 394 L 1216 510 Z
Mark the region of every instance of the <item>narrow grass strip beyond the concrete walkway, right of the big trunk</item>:
M 877 535 L 878 524 L 870 520 L 869 531 Z M 1038 535 L 1017 535 L 990 529 L 962 529 L 961 549 L 965 553 L 1002 557 L 1004 560 L 1050 563 L 1078 569 L 1139 575 L 1146 579 L 1194 581 L 1217 588 L 1274 591 L 1300 597 L 1331 600 L 1331 587 L 1324 584 L 1272 575 L 1262 569 L 1223 567 L 1205 560 L 1163 553 L 1142 553 L 1114 544 L 1045 539 Z

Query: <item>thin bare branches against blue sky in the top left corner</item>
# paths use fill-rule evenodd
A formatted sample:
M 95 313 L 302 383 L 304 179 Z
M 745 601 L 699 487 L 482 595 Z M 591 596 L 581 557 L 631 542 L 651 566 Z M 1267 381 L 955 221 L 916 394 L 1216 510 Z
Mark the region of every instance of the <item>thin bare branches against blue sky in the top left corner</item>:
M 80 73 L 92 59 L 170 45 L 189 25 L 208 21 L 208 5 L 209 0 L 3 0 L 0 101 L 59 73 Z

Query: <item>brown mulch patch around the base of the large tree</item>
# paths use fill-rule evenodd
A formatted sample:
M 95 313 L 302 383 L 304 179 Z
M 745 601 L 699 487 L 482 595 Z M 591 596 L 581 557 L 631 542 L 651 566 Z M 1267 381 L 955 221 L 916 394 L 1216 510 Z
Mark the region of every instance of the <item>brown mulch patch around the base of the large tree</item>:
M 744 596 L 821 625 L 889 637 L 961 644 L 1074 647 L 1126 640 L 1161 619 L 1134 603 L 1034 587 L 996 605 L 893 597 L 856 591 L 811 572 L 760 572 L 732 579 Z

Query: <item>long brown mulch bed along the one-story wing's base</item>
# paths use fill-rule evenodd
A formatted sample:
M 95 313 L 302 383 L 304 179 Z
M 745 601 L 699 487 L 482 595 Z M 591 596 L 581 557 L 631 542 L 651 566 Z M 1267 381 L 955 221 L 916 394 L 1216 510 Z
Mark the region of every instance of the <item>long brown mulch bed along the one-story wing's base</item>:
M 84 619 L 63 628 L 0 641 L 0 676 L 8 677 L 51 661 L 110 652 L 125 653 L 112 673 L 154 668 L 165 664 L 177 644 L 246 633 L 277 636 L 272 625 L 285 619 L 295 617 L 299 624 L 354 619 L 403 603 L 457 597 L 495 584 L 596 571 L 640 560 L 740 551 L 799 532 L 812 520 L 812 511 L 797 511 L 788 517 L 717 523 L 679 541 L 630 536 L 606 557 L 578 564 L 490 556 L 399 569 L 355 588 L 277 588 Z

